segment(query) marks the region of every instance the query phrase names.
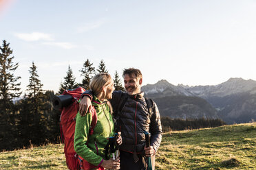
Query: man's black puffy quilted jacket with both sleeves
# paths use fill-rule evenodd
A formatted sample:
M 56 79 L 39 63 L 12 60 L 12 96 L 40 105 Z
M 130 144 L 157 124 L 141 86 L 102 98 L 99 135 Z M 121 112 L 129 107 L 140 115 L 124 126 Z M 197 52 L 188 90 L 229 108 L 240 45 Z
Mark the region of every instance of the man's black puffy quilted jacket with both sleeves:
M 125 106 L 119 111 L 118 106 L 126 98 Z M 113 98 L 109 100 L 113 106 L 114 115 L 118 117 L 118 131 L 122 132 L 122 145 L 120 149 L 134 153 L 142 153 L 145 147 L 145 134 L 150 132 L 151 146 L 158 150 L 162 140 L 162 126 L 160 114 L 156 103 L 153 102 L 153 112 L 149 113 L 144 93 L 128 95 L 122 91 L 114 91 Z

